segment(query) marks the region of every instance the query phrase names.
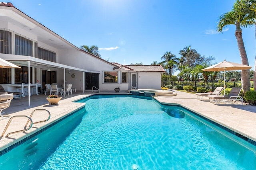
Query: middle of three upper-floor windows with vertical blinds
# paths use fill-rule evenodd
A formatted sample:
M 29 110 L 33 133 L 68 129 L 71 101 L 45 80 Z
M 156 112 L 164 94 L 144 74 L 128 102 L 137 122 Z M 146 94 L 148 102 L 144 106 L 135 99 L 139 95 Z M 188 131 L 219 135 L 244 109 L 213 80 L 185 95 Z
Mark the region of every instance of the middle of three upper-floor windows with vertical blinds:
M 32 41 L 15 35 L 15 54 L 32 56 Z

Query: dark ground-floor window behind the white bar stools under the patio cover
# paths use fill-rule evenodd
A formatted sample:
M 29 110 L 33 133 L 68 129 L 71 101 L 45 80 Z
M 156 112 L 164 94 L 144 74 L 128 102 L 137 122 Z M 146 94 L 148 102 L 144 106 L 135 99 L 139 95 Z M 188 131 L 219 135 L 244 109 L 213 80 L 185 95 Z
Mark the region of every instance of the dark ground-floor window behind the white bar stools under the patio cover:
M 21 68 L 15 68 L 15 84 L 28 83 L 28 67 L 20 66 Z M 36 81 L 36 68 L 35 68 L 35 81 Z M 32 67 L 30 67 L 30 82 L 32 83 Z

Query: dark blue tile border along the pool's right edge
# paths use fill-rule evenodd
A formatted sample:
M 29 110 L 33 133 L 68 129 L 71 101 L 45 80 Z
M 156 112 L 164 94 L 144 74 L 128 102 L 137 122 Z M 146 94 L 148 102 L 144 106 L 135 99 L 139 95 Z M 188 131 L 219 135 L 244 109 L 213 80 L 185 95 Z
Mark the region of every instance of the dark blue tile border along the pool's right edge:
M 157 100 L 155 100 L 155 101 L 157 101 Z M 157 101 L 157 102 L 158 102 L 158 101 Z M 158 102 L 158 103 L 160 103 L 160 102 Z M 160 103 L 160 104 L 162 104 L 162 103 Z M 237 133 L 237 132 L 235 132 L 235 131 L 232 131 L 231 129 L 228 129 L 227 127 L 224 127 L 224 126 L 222 126 L 222 125 L 216 123 L 215 121 L 212 121 L 212 120 L 210 120 L 210 119 L 208 119 L 208 118 L 206 118 L 206 117 L 204 117 L 204 116 L 202 116 L 202 115 L 200 115 L 200 114 L 198 114 L 198 113 L 196 113 L 196 112 L 194 112 L 194 111 L 192 111 L 192 110 L 190 110 L 190 109 L 188 109 L 188 108 L 186 108 L 186 107 L 184 107 L 184 106 L 181 106 L 181 105 L 178 105 L 178 104 L 162 104 L 162 105 L 165 105 L 165 106 L 177 106 L 177 107 L 182 107 L 183 109 L 185 109 L 185 110 L 187 110 L 187 111 L 193 113 L 194 115 L 196 115 L 196 116 L 198 116 L 198 117 L 200 117 L 200 118 L 202 118 L 202 119 L 208 121 L 209 123 L 212 123 L 213 125 L 216 125 L 217 127 L 220 127 L 221 129 L 223 129 L 223 130 L 225 130 L 225 131 L 231 133 L 232 135 L 236 135 L 237 137 L 240 137 L 240 138 L 243 139 L 244 141 L 246 141 L 246 142 L 248 142 L 248 143 L 250 143 L 250 144 L 256 146 L 256 141 L 253 141 L 252 139 L 249 139 L 248 137 L 245 137 L 244 135 L 241 135 L 240 133 Z

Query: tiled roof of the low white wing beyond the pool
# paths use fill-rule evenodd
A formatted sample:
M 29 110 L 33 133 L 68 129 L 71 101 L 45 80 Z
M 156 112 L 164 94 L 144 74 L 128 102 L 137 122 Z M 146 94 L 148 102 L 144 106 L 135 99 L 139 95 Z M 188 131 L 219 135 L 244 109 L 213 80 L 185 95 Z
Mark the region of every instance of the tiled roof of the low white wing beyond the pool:
M 140 72 L 165 72 L 161 65 L 124 65 Z

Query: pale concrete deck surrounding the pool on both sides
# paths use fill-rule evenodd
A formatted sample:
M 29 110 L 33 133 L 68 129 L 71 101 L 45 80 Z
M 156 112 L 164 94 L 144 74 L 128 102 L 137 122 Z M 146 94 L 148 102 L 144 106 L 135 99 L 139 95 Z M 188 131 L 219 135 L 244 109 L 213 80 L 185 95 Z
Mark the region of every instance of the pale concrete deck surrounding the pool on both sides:
M 202 115 L 232 131 L 235 131 L 249 139 L 256 141 L 256 106 L 250 105 L 241 105 L 241 104 L 212 104 L 207 100 L 201 101 L 197 100 L 197 96 L 195 94 L 189 94 L 185 92 L 179 92 L 174 90 L 177 93 L 177 96 L 158 96 L 155 99 L 158 102 L 163 104 L 177 104 L 184 106 L 199 115 Z M 4 110 L 4 115 L 27 115 L 29 116 L 34 109 L 47 109 L 51 113 L 50 120 L 42 123 L 38 123 L 32 126 L 32 128 L 25 133 L 15 133 L 9 135 L 9 137 L 5 137 L 7 133 L 12 131 L 21 130 L 24 128 L 26 121 L 28 119 L 17 118 L 13 119 L 10 124 L 8 130 L 4 134 L 4 137 L 0 139 L 0 151 L 6 149 L 7 147 L 21 141 L 27 134 L 33 134 L 43 129 L 47 125 L 58 121 L 65 115 L 72 113 L 73 111 L 78 110 L 85 105 L 83 103 L 74 103 L 72 101 L 84 98 L 86 96 L 91 95 L 92 92 L 74 92 L 73 95 L 62 96 L 62 100 L 60 100 L 58 105 L 49 105 L 46 100 L 47 95 L 40 94 L 39 96 L 31 96 L 30 99 L 30 107 L 28 106 L 28 97 L 22 99 L 12 100 L 10 107 Z M 100 93 L 94 94 L 127 94 L 124 91 L 120 91 L 119 93 L 102 91 Z M 40 116 L 38 116 L 40 115 Z M 34 113 L 32 119 L 33 121 L 40 121 L 43 119 L 47 119 L 47 113 L 40 112 Z M 0 134 L 4 131 L 6 124 L 10 118 L 0 120 Z

